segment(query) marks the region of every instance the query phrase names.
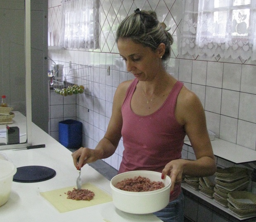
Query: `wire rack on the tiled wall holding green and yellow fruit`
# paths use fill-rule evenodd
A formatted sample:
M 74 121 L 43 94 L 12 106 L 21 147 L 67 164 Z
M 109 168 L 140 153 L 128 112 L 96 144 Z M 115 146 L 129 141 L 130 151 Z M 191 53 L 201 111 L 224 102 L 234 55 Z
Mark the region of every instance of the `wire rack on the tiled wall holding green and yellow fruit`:
M 67 74 L 65 74 L 67 73 Z M 90 65 L 72 65 L 63 68 L 63 82 L 53 80 L 56 90 L 67 89 L 69 86 L 83 86 L 84 92 L 92 92 L 92 75 Z

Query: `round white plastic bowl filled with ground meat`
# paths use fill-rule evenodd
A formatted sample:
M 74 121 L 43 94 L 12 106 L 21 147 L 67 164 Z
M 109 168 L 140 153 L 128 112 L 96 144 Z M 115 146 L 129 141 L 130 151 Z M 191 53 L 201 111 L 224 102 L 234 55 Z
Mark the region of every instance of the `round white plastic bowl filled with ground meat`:
M 161 181 L 165 187 L 148 192 L 130 192 L 115 187 L 117 182 L 126 178 L 146 177 L 151 181 Z M 110 181 L 114 206 L 126 213 L 146 214 L 154 213 L 167 206 L 170 198 L 171 178 L 161 179 L 161 173 L 154 171 L 130 171 L 120 173 Z

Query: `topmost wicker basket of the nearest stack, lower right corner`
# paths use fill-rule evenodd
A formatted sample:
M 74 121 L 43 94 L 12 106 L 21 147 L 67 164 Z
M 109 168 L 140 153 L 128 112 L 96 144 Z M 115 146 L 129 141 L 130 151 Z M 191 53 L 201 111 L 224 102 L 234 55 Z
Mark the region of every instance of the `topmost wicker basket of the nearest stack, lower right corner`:
M 254 209 L 256 211 L 256 195 L 248 191 L 228 193 L 228 198 L 237 209 Z

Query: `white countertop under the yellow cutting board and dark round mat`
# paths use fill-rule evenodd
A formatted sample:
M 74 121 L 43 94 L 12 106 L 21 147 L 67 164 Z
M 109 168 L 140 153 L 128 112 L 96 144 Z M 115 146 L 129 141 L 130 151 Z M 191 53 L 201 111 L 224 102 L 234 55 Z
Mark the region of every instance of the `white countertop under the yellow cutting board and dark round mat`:
M 55 139 L 38 128 L 33 127 L 33 145 L 45 144 L 45 148 L 32 150 L 3 150 L 16 167 L 47 166 L 56 171 L 50 180 L 35 183 L 12 183 L 10 198 L 0 206 L 0 220 L 8 222 L 161 222 L 153 214 L 133 215 L 124 213 L 114 207 L 113 202 L 72 210 L 59 211 L 44 199 L 40 192 L 63 187 L 76 186 L 78 172 L 73 166 L 71 152 Z M 88 164 L 81 171 L 82 182 L 90 182 L 111 194 L 110 181 L 104 178 Z

